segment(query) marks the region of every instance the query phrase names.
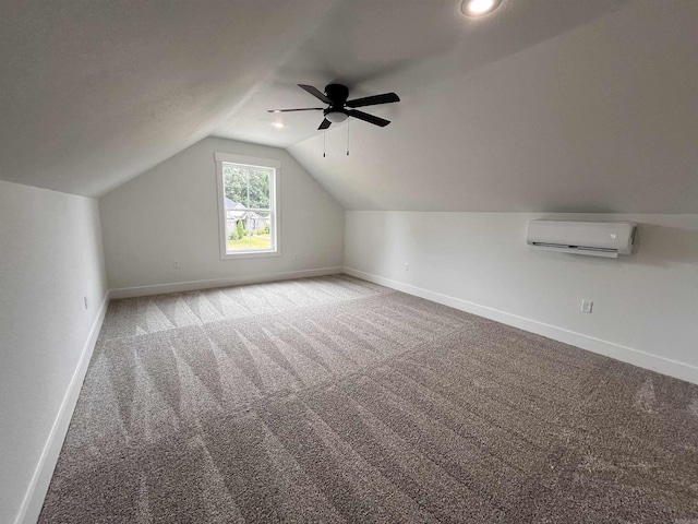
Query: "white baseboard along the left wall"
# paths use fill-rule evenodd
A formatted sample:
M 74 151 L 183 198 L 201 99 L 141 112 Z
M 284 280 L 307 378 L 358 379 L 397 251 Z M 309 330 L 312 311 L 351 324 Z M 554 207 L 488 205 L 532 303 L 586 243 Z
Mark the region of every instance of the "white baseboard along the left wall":
M 68 385 L 68 391 L 65 391 L 63 402 L 61 402 L 61 407 L 53 420 L 51 432 L 44 445 L 41 456 L 36 465 L 32 480 L 29 481 L 29 487 L 27 488 L 22 505 L 20 507 L 20 512 L 14 521 L 15 524 L 34 524 L 41 513 L 44 499 L 46 498 L 48 487 L 51 484 L 53 469 L 56 469 L 58 456 L 61 453 L 63 441 L 68 433 L 68 427 L 70 426 L 70 420 L 73 417 L 73 412 L 77 404 L 80 390 L 82 389 L 83 381 L 85 380 L 85 373 L 87 373 L 87 367 L 89 366 L 89 360 L 92 359 L 92 354 L 95 349 L 95 344 L 97 343 L 97 336 L 99 336 L 99 330 L 101 329 L 101 323 L 105 320 L 109 298 L 110 294 L 107 291 L 105 294 L 105 299 L 101 302 L 101 307 L 97 312 L 97 317 L 95 317 L 92 324 L 89 335 L 87 335 L 87 341 L 83 346 L 80 361 L 77 362 L 77 367 L 75 368 L 70 384 Z

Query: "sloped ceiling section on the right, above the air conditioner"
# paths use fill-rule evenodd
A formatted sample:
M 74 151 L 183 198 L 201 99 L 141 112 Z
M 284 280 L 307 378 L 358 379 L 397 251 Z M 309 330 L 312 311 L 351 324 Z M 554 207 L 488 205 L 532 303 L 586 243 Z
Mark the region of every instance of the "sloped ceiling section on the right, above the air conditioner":
M 458 56 L 381 79 L 402 102 L 350 121 L 349 156 L 346 126 L 289 151 L 348 210 L 698 213 L 698 2 Z

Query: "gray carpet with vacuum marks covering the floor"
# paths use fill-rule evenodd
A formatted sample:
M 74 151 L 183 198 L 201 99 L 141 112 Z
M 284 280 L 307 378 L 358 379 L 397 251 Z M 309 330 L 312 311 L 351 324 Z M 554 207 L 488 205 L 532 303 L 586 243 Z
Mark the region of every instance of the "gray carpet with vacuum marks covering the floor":
M 345 275 L 116 300 L 40 522 L 698 523 L 698 386 Z

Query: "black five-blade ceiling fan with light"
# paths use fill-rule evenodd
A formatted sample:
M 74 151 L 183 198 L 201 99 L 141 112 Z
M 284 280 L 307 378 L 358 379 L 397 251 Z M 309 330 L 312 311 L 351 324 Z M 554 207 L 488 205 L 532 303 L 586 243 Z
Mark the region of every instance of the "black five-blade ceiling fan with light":
M 349 88 L 342 84 L 329 84 L 325 86 L 325 93 L 321 92 L 312 85 L 298 84 L 299 87 L 305 90 L 315 98 L 327 104 L 327 107 L 304 107 L 300 109 L 269 109 L 268 112 L 290 112 L 290 111 L 323 111 L 325 119 L 317 129 L 327 129 L 333 123 L 339 123 L 349 117 L 358 118 L 374 126 L 382 128 L 390 123 L 384 118 L 374 117 L 368 112 L 359 111 L 354 107 L 375 106 L 378 104 L 390 104 L 400 102 L 400 97 L 395 93 L 383 93 L 382 95 L 366 96 L 364 98 L 354 98 L 347 100 L 349 97 Z

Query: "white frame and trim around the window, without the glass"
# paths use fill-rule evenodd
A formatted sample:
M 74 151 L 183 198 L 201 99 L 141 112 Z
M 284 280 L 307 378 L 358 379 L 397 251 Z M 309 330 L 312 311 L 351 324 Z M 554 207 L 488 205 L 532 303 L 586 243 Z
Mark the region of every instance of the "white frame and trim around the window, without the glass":
M 218 238 L 220 241 L 220 259 L 253 259 L 256 257 L 280 257 L 281 255 L 281 206 L 278 195 L 279 179 L 281 175 L 281 163 L 269 158 L 255 158 L 253 156 L 232 155 L 229 153 L 216 153 L 216 179 L 218 187 Z M 241 164 L 251 167 L 264 167 L 274 170 L 274 176 L 269 180 L 269 209 L 272 210 L 272 249 L 250 249 L 245 251 L 228 252 L 228 239 L 226 238 L 226 205 L 224 196 L 226 191 L 222 182 L 222 165 L 224 164 Z

